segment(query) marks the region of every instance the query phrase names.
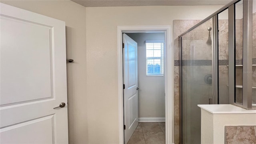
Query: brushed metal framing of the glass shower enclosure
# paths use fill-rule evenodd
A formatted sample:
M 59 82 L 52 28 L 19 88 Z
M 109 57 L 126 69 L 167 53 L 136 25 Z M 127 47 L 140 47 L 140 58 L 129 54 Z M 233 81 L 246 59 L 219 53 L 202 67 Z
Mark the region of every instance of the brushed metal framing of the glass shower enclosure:
M 212 15 L 208 16 L 183 34 L 179 36 L 180 50 L 180 143 L 182 144 L 182 36 L 201 26 L 212 18 L 212 94 L 214 101 L 211 104 L 218 104 L 218 14 L 228 9 L 228 97 L 229 104 L 240 106 L 246 109 L 256 109 L 252 106 L 252 73 L 243 72 L 243 104 L 236 103 L 235 89 L 235 4 L 240 0 L 233 0 L 226 4 Z M 252 2 L 243 0 L 243 71 L 252 71 Z

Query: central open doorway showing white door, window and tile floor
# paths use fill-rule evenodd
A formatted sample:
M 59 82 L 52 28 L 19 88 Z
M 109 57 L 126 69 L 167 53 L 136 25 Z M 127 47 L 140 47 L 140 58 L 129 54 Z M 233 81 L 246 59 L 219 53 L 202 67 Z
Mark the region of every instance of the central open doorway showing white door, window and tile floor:
M 124 142 L 165 144 L 165 33 L 124 33 L 123 43 Z

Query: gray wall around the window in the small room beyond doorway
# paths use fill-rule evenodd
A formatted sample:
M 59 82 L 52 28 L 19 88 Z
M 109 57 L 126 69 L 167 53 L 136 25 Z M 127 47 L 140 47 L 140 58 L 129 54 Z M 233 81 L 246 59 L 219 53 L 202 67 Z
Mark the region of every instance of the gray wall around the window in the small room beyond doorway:
M 164 76 L 146 76 L 146 40 L 164 40 L 164 33 L 127 33 L 138 44 L 139 118 L 164 118 Z

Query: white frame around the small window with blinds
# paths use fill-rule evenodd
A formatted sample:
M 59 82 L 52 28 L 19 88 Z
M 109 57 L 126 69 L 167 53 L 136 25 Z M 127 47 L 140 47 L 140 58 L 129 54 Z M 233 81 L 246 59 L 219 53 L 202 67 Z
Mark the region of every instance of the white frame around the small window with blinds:
M 161 48 L 161 53 L 162 53 L 162 56 L 159 57 L 160 58 L 160 61 L 161 61 L 161 64 L 160 64 L 160 73 L 161 74 L 148 74 L 148 57 L 146 56 L 146 76 L 164 76 L 164 46 L 165 46 L 165 42 L 164 40 L 146 40 L 145 42 L 146 44 L 147 43 L 163 43 L 163 48 Z M 146 53 L 147 53 L 147 49 L 146 49 Z M 162 68 L 161 68 L 162 66 Z

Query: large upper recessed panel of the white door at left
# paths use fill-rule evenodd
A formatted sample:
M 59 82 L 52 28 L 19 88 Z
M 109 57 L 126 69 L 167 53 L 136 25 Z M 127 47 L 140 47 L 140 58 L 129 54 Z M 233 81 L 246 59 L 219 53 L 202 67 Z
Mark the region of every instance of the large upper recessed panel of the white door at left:
M 0 30 L 0 104 L 52 97 L 52 28 L 1 16 Z

